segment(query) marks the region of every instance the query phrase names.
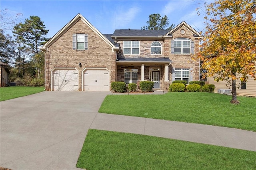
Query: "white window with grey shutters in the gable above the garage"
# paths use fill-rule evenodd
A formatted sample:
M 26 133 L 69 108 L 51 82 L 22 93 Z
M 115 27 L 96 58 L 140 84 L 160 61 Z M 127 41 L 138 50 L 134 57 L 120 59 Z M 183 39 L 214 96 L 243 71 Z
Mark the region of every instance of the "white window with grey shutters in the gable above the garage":
M 73 34 L 73 49 L 88 50 L 88 34 Z

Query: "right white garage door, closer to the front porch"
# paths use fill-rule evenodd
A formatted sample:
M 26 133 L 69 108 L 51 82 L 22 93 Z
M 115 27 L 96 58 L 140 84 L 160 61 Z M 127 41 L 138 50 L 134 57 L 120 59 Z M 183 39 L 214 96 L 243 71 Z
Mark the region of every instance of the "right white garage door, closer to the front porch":
M 106 69 L 84 71 L 84 91 L 109 91 L 109 72 Z

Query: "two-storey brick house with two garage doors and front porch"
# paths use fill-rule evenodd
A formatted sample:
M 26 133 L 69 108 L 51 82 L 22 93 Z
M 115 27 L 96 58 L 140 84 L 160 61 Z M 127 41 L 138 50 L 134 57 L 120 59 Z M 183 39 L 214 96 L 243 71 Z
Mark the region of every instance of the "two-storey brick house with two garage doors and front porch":
M 172 30 L 115 30 L 102 34 L 81 14 L 40 49 L 45 53 L 48 91 L 110 91 L 111 82 L 199 80 L 191 59 L 203 36 L 186 22 Z

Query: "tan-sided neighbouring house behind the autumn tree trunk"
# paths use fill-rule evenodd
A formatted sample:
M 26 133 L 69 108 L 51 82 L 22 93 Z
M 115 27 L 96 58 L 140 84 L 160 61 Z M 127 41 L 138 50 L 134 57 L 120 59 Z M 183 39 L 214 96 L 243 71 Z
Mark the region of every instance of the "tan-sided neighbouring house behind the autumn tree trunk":
M 248 79 L 246 82 L 241 82 L 239 80 L 236 80 L 236 85 L 239 87 L 239 89 L 236 89 L 237 95 L 242 96 L 252 96 L 256 97 L 256 81 L 248 75 Z M 210 84 L 215 85 L 214 92 L 216 93 L 222 93 L 222 94 L 231 94 L 232 87 L 228 87 L 226 81 L 219 81 L 218 83 L 214 81 L 214 77 L 208 77 L 207 81 Z

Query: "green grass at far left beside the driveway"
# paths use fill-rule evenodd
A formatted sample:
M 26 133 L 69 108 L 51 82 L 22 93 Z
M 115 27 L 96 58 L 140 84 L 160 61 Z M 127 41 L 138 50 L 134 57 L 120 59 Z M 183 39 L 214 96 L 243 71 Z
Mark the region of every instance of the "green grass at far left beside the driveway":
M 44 91 L 44 87 L 11 86 L 0 88 L 0 101 L 32 95 Z

